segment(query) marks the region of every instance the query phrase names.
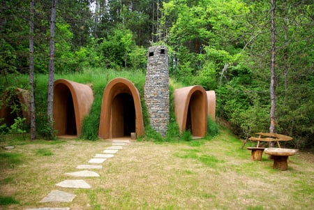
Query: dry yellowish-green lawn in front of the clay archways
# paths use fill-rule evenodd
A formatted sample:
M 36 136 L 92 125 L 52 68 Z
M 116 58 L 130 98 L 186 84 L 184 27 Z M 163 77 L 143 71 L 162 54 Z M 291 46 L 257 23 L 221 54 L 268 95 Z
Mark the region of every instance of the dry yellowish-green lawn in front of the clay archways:
M 19 144 L 20 143 L 20 144 Z M 1 146 L 8 141 L 1 140 Z M 12 142 L 11 142 L 12 144 Z M 91 189 L 55 186 L 111 142 L 83 140 L 16 141 L 1 149 L 0 209 L 312 209 L 314 155 L 298 153 L 287 171 L 272 160 L 250 160 L 251 151 L 227 131 L 212 140 L 132 142 L 107 159 L 100 177 L 83 178 Z M 10 153 L 11 155 L 8 155 Z M 12 155 L 13 154 L 13 155 Z M 69 203 L 38 203 L 51 190 L 76 195 Z M 14 204 L 15 202 L 15 204 Z

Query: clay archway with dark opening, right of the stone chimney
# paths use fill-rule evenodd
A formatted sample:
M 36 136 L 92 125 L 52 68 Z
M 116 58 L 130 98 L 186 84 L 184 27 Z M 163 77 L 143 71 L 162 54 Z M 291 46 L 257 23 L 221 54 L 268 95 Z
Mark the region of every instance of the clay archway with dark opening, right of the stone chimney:
M 196 85 L 174 90 L 174 113 L 180 132 L 190 130 L 194 137 L 207 133 L 207 94 Z

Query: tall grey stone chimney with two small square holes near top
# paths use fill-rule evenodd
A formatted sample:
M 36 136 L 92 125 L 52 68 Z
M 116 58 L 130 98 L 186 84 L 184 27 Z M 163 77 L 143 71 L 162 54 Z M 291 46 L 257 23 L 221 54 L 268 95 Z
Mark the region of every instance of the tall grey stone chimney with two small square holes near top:
M 149 47 L 144 98 L 151 126 L 165 137 L 170 121 L 167 47 Z

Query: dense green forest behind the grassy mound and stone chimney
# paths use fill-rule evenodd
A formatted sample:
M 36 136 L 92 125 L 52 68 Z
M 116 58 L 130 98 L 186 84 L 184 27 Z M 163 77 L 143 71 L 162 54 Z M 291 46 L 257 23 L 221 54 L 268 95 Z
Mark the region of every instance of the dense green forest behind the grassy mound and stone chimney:
M 35 75 L 45 75 L 51 1 L 34 2 Z M 0 3 L 0 91 L 13 86 L 8 75 L 29 74 L 29 8 Z M 270 8 L 265 0 L 59 0 L 55 72 L 144 73 L 147 48 L 165 45 L 170 76 L 216 91 L 216 117 L 246 138 L 269 130 Z M 276 131 L 300 149 L 314 146 L 313 10 L 312 1 L 276 1 Z

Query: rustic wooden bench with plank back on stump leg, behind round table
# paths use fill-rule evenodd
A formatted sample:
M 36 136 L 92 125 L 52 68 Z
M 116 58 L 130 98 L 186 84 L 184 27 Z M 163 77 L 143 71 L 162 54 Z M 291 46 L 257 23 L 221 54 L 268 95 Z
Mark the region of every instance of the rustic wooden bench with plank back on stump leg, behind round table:
M 257 147 L 248 147 L 248 150 L 251 150 L 251 159 L 252 160 L 262 160 L 262 154 L 264 147 L 260 147 L 260 142 L 277 142 L 278 147 L 281 148 L 281 141 L 290 141 L 292 137 L 287 135 L 281 135 L 278 133 L 256 133 L 259 137 L 249 137 L 248 140 L 257 141 Z

